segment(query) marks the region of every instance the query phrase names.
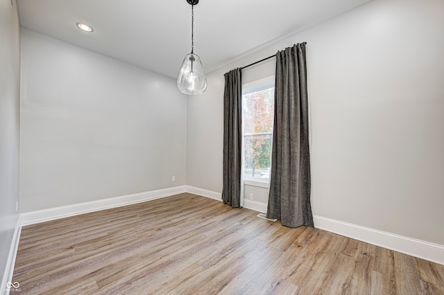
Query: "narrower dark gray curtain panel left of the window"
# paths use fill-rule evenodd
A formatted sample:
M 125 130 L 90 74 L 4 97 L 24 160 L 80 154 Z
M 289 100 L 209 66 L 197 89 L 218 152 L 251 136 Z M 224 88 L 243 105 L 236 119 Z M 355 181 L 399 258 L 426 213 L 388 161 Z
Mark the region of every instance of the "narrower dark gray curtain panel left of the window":
M 242 82 L 241 69 L 225 73 L 223 93 L 223 190 L 222 200 L 241 206 Z

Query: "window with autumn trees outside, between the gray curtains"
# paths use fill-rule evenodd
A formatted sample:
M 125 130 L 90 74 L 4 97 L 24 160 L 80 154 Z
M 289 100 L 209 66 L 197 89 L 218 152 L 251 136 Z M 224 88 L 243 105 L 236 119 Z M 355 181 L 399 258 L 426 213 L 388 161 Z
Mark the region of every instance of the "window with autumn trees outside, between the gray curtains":
M 274 95 L 274 76 L 242 85 L 244 179 L 270 177 Z

